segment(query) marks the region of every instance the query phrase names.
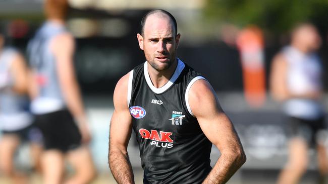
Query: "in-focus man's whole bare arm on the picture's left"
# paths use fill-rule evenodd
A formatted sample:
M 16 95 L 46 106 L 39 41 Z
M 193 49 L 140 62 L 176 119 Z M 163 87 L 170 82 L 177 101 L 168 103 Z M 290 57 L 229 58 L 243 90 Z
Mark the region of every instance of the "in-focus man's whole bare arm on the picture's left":
M 132 131 L 127 94 L 129 74 L 123 76 L 114 91 L 114 113 L 111 120 L 108 162 L 118 183 L 134 183 L 132 166 L 128 156 L 128 143 Z

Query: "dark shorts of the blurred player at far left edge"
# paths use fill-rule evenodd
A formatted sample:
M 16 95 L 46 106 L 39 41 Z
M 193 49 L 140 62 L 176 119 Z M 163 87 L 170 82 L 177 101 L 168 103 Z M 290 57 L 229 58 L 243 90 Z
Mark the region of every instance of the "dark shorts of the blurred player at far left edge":
M 17 136 L 22 142 L 33 142 L 37 144 L 42 143 L 42 134 L 40 130 L 35 126 L 34 123 L 28 125 L 25 128 L 18 130 L 2 130 L 1 131 L 4 136 L 6 135 L 14 135 Z

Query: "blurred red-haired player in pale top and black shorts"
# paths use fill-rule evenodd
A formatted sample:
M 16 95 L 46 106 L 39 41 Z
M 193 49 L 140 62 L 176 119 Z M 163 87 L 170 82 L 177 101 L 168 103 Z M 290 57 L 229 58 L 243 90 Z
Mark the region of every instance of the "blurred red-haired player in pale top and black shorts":
M 66 0 L 44 3 L 47 21 L 28 45 L 33 70 L 31 111 L 44 137 L 43 183 L 64 183 L 64 158 L 75 169 L 65 183 L 88 183 L 95 175 L 90 134 L 75 78 L 74 39 L 65 28 Z

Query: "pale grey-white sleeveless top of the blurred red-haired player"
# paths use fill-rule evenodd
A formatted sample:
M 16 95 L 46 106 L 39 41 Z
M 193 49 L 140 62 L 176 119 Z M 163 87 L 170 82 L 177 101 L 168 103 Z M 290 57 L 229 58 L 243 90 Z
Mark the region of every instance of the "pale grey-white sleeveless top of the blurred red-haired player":
M 29 62 L 37 74 L 38 96 L 31 103 L 33 114 L 46 114 L 66 108 L 57 76 L 56 58 L 50 51 L 50 41 L 66 32 L 62 25 L 46 22 L 28 44 Z

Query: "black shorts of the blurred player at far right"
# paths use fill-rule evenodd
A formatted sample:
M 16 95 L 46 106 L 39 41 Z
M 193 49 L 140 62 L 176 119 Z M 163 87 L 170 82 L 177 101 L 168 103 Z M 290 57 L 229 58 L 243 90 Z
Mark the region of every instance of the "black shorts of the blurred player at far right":
M 318 143 L 318 132 L 327 128 L 324 117 L 315 120 L 288 117 L 288 122 L 290 125 L 290 135 L 293 137 L 302 137 L 310 146 Z

